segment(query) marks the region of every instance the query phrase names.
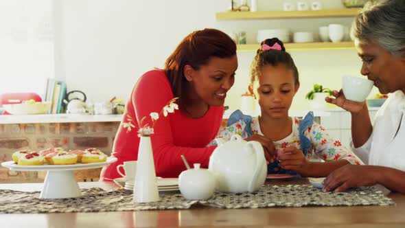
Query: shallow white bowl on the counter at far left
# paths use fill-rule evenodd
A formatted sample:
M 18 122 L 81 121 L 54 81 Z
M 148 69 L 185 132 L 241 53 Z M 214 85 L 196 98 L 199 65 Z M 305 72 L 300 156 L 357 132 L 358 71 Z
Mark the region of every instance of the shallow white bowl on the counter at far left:
M 34 104 L 3 104 L 3 108 L 13 115 L 46 114 L 51 108 L 51 102 L 37 102 Z

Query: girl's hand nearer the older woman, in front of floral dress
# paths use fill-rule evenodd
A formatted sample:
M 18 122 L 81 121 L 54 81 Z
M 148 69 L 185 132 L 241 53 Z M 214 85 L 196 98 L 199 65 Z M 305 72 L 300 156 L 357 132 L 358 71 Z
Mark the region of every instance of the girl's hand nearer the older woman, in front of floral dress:
M 303 155 L 303 152 L 294 146 L 279 150 L 278 159 L 281 168 L 284 170 L 294 170 L 299 173 L 305 172 L 310 164 Z

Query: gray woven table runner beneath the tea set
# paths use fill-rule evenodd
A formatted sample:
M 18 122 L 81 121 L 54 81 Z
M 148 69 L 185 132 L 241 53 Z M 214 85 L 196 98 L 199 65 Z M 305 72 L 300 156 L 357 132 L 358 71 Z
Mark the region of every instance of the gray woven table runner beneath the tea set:
M 187 201 L 176 192 L 162 194 L 161 201 L 132 203 L 132 191 L 106 192 L 98 187 L 82 190 L 83 196 L 40 199 L 39 192 L 0 190 L 0 214 L 52 212 L 122 212 L 148 209 L 187 209 L 200 204 L 219 208 L 395 205 L 375 187 L 358 187 L 349 192 L 322 192 L 312 185 L 264 185 L 258 192 L 230 194 L 216 192 L 207 201 Z

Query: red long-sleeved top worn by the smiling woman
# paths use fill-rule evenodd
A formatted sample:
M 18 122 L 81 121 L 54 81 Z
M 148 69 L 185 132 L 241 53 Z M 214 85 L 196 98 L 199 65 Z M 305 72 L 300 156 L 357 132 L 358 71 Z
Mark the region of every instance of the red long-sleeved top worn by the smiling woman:
M 124 161 L 137 160 L 138 122 L 142 117 L 146 117 L 143 124 L 148 123 L 151 126 L 149 114 L 160 113 L 172 98 L 174 95 L 165 71 L 148 71 L 139 78 L 115 136 L 113 157 L 117 157 L 118 161 L 104 168 L 102 179 L 121 177 L 116 167 Z M 186 169 L 181 155 L 185 156 L 190 166 L 193 163 L 201 163 L 201 166 L 206 168 L 215 149 L 214 146 L 207 147 L 207 144 L 216 137 L 223 113 L 223 106 L 211 106 L 207 113 L 198 119 L 188 117 L 181 110 L 175 110 L 167 117 L 161 115 L 154 125 L 154 134 L 150 135 L 157 176 L 177 177 Z M 129 132 L 122 124 L 128 122 L 128 117 L 133 119 L 132 124 L 135 125 Z

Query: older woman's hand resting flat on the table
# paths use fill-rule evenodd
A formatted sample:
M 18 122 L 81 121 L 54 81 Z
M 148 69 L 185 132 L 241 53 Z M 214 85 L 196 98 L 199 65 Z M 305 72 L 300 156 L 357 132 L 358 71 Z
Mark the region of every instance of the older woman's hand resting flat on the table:
M 375 185 L 380 172 L 375 166 L 346 165 L 338 168 L 323 181 L 325 192 L 345 192 L 351 187 Z

